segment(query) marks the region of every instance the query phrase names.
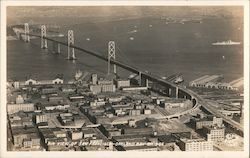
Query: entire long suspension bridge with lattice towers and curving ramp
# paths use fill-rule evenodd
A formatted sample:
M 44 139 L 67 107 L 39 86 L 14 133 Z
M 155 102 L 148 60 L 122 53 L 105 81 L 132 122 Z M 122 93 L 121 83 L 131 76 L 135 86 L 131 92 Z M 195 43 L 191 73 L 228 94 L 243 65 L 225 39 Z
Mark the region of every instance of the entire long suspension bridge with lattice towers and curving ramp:
M 41 26 L 41 34 L 32 34 L 29 32 L 29 24 L 25 23 L 24 24 L 24 32 L 16 32 L 16 35 L 19 39 L 24 40 L 25 42 L 30 42 L 30 36 L 37 37 L 41 39 L 41 48 L 42 49 L 47 49 L 48 48 L 48 42 L 52 42 L 53 45 L 53 51 L 56 53 L 61 53 L 61 46 L 65 46 L 68 48 L 67 51 L 67 59 L 68 60 L 76 60 L 77 56 L 75 54 L 75 50 L 78 50 L 80 52 L 95 56 L 96 58 L 99 58 L 101 60 L 104 60 L 108 62 L 108 74 L 111 73 L 111 67 L 113 66 L 113 73 L 117 74 L 117 69 L 116 66 L 123 68 L 129 72 L 132 72 L 134 74 L 137 74 L 139 76 L 139 84 L 140 86 L 148 87 L 148 82 L 154 82 L 162 87 L 164 87 L 164 95 L 168 97 L 173 97 L 173 98 L 185 98 L 189 99 L 193 103 L 193 108 L 181 113 L 177 113 L 174 115 L 169 115 L 165 116 L 164 119 L 171 119 L 171 118 L 179 118 L 183 115 L 191 113 L 193 110 L 195 110 L 198 107 L 201 107 L 203 110 L 213 114 L 216 117 L 221 117 L 223 118 L 223 122 L 225 123 L 226 126 L 232 128 L 236 133 L 239 135 L 244 134 L 244 129 L 243 126 L 234 120 L 226 117 L 217 109 L 215 109 L 211 103 L 202 97 L 200 97 L 198 94 L 195 92 L 183 87 L 176 85 L 168 80 L 164 80 L 161 77 L 154 75 L 153 73 L 150 73 L 148 71 L 143 71 L 140 70 L 139 68 L 133 67 L 131 65 L 128 65 L 126 63 L 123 63 L 121 61 L 116 60 L 116 54 L 115 54 L 115 41 L 110 41 L 108 43 L 108 57 L 100 55 L 99 53 L 96 53 L 94 51 L 90 51 L 87 49 L 84 49 L 82 47 L 74 45 L 74 32 L 73 30 L 68 30 L 68 41 L 67 42 L 62 42 L 55 40 L 53 38 L 48 38 L 46 36 L 46 26 L 42 25 Z

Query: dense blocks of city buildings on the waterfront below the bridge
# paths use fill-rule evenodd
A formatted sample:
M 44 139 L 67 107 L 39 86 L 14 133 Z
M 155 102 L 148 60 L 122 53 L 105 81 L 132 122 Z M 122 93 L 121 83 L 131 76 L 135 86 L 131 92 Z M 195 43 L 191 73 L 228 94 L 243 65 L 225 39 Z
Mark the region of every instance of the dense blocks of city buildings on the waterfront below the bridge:
M 211 151 L 225 140 L 223 119 L 205 113 L 190 118 L 193 132 L 187 135 L 156 127 L 192 109 L 189 99 L 165 97 L 129 79 L 79 78 L 8 83 L 11 150 Z

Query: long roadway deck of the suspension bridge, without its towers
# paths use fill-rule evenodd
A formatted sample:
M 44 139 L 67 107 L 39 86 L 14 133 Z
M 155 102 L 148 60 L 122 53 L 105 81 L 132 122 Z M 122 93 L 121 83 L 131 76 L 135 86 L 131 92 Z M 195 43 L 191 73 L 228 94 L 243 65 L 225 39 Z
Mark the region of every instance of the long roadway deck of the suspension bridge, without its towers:
M 24 33 L 20 33 L 20 34 L 24 34 Z M 35 34 L 27 34 L 27 35 L 30 35 L 30 36 L 35 36 L 35 37 L 38 37 L 38 38 L 41 38 L 40 35 L 35 35 Z M 55 43 L 58 43 L 58 44 L 61 44 L 61 45 L 64 45 L 64 46 L 68 46 L 68 43 L 67 42 L 61 42 L 61 41 L 57 41 L 55 39 L 51 39 L 51 38 L 47 38 L 47 37 L 43 37 L 44 39 L 47 39 L 49 41 L 52 41 L 52 42 L 55 42 Z M 90 51 L 90 50 L 86 50 L 86 49 L 83 49 L 81 47 L 78 47 L 78 46 L 75 46 L 75 45 L 70 45 L 71 48 L 75 48 L 77 50 L 80 50 L 82 52 L 85 52 L 89 55 L 92 55 L 92 56 L 95 56 L 101 60 L 104 60 L 104 61 L 108 61 L 108 58 L 107 57 L 104 57 L 94 51 Z M 215 109 L 213 107 L 213 105 L 211 105 L 211 103 L 209 103 L 208 101 L 204 100 L 203 98 L 201 98 L 198 94 L 196 94 L 195 92 L 187 89 L 187 88 L 184 88 L 184 87 L 181 87 L 181 86 L 178 86 L 174 83 L 171 83 L 169 81 L 166 81 L 166 80 L 163 80 L 161 79 L 161 77 L 157 76 L 157 75 L 154 75 L 154 74 L 151 74 L 147 71 L 141 71 L 139 70 L 138 68 L 135 68 L 135 67 L 132 67 L 132 66 L 129 66 L 125 63 L 122 63 L 122 62 L 119 62 L 119 61 L 114 61 L 114 60 L 111 60 L 111 63 L 112 64 L 115 64 L 121 68 L 124 68 L 130 72 L 133 72 L 133 73 L 136 73 L 136 74 L 140 74 L 141 76 L 143 76 L 144 78 L 148 79 L 148 80 L 151 80 L 151 81 L 154 81 L 154 82 L 157 82 L 158 84 L 162 85 L 162 86 L 171 86 L 171 87 L 178 87 L 180 91 L 184 92 L 184 93 L 187 93 L 191 96 L 191 98 L 195 99 L 196 100 L 196 105 L 194 105 L 194 107 L 197 107 L 198 105 L 201 105 L 204 109 L 206 109 L 208 112 L 210 112 L 211 114 L 215 115 L 216 117 L 221 117 L 223 118 L 223 121 L 226 122 L 227 124 L 231 125 L 232 127 L 236 128 L 237 130 L 239 130 L 240 132 L 244 133 L 244 130 L 243 130 L 243 127 L 235 122 L 234 120 L 224 116 L 222 113 L 220 113 L 217 109 Z M 184 115 L 185 113 L 182 113 L 181 115 Z M 168 117 L 169 118 L 169 117 Z

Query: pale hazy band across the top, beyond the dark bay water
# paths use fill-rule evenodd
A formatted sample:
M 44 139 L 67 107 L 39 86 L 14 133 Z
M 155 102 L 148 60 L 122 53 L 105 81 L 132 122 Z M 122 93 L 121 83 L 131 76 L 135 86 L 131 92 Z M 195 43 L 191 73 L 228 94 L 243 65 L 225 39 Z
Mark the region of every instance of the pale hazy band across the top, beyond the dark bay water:
M 7 7 L 7 24 L 23 22 L 53 22 L 49 18 L 140 18 L 140 17 L 200 17 L 203 15 L 234 16 L 243 15 L 242 7 L 226 6 L 9 6 Z M 75 18 L 77 19 L 77 18 Z M 72 21 L 74 22 L 74 21 Z M 75 23 L 75 22 L 74 22 Z

